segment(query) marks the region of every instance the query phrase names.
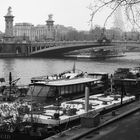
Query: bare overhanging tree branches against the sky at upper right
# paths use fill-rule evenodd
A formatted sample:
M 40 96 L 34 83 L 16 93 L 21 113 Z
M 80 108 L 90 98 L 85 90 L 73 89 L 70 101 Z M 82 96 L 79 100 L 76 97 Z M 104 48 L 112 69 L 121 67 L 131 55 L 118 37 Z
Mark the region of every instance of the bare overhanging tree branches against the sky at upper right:
M 134 26 L 140 28 L 138 22 L 140 20 L 140 0 L 93 0 L 93 4 L 90 4 L 89 9 L 91 10 L 91 19 L 90 23 L 92 25 L 95 15 L 98 14 L 101 10 L 108 7 L 111 9 L 110 14 L 107 16 L 104 27 L 108 19 L 113 15 L 113 13 L 121 7 L 124 12 L 127 20 Z

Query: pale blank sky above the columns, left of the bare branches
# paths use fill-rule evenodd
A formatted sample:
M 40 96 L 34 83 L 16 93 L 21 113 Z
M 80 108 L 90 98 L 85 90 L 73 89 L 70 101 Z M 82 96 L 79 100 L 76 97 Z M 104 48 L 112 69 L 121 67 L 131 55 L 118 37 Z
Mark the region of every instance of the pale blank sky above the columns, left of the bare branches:
M 46 24 L 48 15 L 53 14 L 54 24 L 89 30 L 91 11 L 88 7 L 91 2 L 92 0 L 0 0 L 0 31 L 5 30 L 4 16 L 9 6 L 12 7 L 12 14 L 15 16 L 14 24 Z M 95 17 L 93 25 L 102 26 L 104 21 L 105 13 L 100 13 Z

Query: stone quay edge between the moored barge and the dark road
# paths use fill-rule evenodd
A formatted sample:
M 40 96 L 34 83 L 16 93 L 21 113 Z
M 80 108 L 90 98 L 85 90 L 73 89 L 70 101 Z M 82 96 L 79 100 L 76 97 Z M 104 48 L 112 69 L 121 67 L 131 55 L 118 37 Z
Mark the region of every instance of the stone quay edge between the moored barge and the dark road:
M 81 125 L 73 127 L 65 132 L 61 132 L 45 140 L 77 140 L 91 132 L 104 128 L 105 126 L 116 122 L 126 116 L 140 110 L 140 101 L 135 101 L 131 104 L 125 105 L 117 110 L 113 110 L 107 114 L 100 116 L 100 124 L 97 127 L 86 128 Z

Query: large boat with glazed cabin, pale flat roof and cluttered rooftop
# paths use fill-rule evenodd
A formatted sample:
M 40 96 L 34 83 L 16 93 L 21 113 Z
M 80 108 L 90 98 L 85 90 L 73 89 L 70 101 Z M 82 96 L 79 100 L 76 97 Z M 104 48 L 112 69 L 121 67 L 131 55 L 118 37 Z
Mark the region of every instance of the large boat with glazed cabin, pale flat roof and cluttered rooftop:
M 67 70 L 60 74 L 31 78 L 27 96 L 37 100 L 48 98 L 71 99 L 83 96 L 86 85 L 90 86 L 91 94 L 103 92 L 108 84 L 107 73 L 87 73 L 81 70 Z

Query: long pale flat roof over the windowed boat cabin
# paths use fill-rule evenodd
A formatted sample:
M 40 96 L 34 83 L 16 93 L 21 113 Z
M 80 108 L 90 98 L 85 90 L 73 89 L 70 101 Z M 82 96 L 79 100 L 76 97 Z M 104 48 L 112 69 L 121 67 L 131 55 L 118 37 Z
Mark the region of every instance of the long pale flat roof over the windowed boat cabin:
M 98 81 L 100 79 L 97 78 L 91 78 L 91 77 L 81 77 L 81 78 L 74 78 L 74 79 L 63 79 L 63 80 L 54 80 L 49 82 L 35 82 L 30 85 L 45 85 L 45 86 L 68 86 L 68 85 L 76 85 L 76 84 L 82 84 L 82 83 L 89 83 Z

